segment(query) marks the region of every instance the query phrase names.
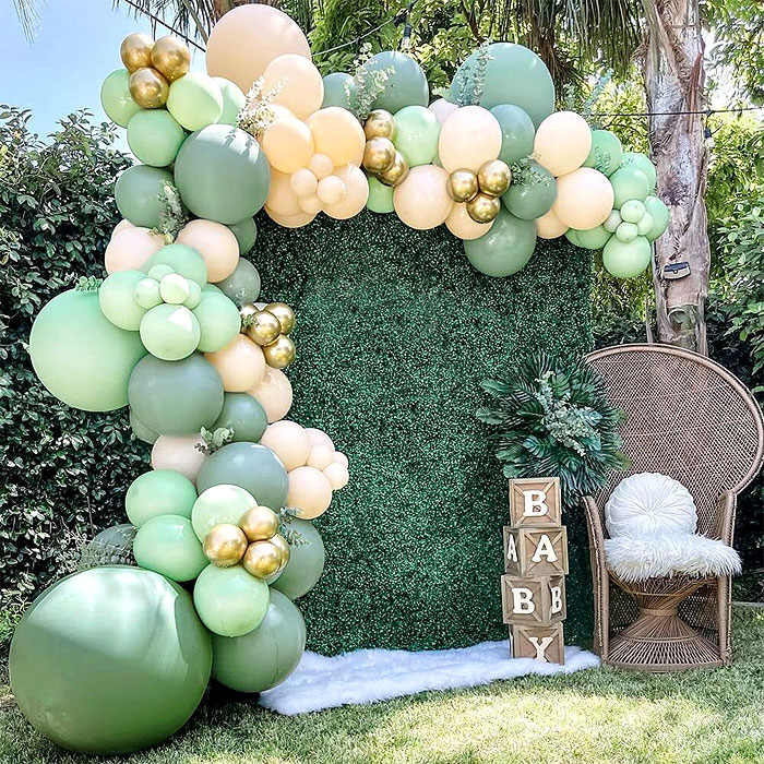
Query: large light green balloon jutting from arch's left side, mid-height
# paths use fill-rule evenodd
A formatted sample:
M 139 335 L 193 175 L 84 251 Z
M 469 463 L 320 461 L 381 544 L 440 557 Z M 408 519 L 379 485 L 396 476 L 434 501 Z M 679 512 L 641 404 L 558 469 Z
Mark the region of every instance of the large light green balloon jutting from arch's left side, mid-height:
M 40 382 L 59 401 L 85 411 L 127 405 L 128 381 L 145 355 L 136 332 L 104 315 L 97 291 L 64 291 L 32 324 L 29 357 Z

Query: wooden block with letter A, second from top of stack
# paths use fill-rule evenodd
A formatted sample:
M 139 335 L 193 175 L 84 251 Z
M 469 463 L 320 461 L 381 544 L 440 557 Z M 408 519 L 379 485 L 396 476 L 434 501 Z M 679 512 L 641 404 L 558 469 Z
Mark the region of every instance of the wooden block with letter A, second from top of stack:
M 568 573 L 568 533 L 564 528 L 504 526 L 504 571 L 511 575 Z

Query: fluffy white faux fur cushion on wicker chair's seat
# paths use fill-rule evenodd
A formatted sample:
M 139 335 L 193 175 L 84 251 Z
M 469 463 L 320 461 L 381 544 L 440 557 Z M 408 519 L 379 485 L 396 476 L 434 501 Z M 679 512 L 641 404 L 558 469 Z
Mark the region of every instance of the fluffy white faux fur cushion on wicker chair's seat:
M 671 575 L 740 573 L 738 552 L 724 541 L 689 533 L 605 539 L 607 565 L 622 581 Z

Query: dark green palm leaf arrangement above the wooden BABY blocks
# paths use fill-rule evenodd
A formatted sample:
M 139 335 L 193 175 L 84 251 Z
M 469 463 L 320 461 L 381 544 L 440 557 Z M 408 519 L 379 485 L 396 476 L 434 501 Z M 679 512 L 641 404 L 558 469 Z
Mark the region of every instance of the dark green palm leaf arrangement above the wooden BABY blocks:
M 572 509 L 625 466 L 618 434 L 623 415 L 582 360 L 529 354 L 482 387 L 494 401 L 477 417 L 492 426 L 505 477 L 559 477 L 565 509 Z

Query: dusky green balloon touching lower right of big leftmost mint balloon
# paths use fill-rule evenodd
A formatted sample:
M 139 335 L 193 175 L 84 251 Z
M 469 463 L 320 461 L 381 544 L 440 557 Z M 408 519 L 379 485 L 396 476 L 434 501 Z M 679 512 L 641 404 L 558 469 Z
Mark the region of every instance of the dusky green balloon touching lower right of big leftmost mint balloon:
M 192 435 L 210 427 L 223 408 L 223 382 L 198 353 L 179 361 L 143 358 L 129 385 L 135 416 L 160 435 Z

